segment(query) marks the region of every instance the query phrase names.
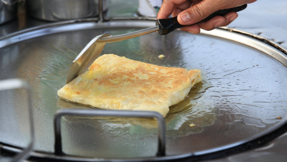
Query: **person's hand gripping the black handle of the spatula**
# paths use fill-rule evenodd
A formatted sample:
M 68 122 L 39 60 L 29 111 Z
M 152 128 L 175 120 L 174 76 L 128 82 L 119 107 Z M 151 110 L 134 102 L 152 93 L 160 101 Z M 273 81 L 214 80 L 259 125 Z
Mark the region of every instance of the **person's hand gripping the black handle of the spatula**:
M 197 23 L 213 12 L 253 3 L 255 1 L 256 0 L 163 0 L 157 19 L 166 19 L 172 14 L 173 17 L 177 16 L 177 21 L 181 25 L 190 25 L 182 27 L 181 30 L 198 34 L 200 33 L 200 28 L 213 30 L 216 27 L 230 24 L 238 17 L 236 12 L 229 12 L 224 16 L 215 16 L 206 22 Z

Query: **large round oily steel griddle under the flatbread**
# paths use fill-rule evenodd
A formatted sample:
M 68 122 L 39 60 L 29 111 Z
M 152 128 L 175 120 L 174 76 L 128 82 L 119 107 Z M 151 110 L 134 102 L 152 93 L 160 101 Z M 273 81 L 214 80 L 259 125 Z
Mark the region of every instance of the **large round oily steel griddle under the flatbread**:
M 66 115 L 62 150 L 54 155 L 54 114 L 82 108 L 58 98 L 73 59 L 95 36 L 154 26 L 150 20 L 52 23 L 0 40 L 0 79 L 20 78 L 32 87 L 35 140 L 32 156 L 52 159 L 163 160 L 214 153 L 267 135 L 286 124 L 286 49 L 239 30 L 190 34 L 176 30 L 108 43 L 102 54 L 151 64 L 200 69 L 203 81 L 165 117 L 166 156 L 156 157 L 157 121 L 130 117 Z M 159 59 L 159 55 L 165 55 Z M 30 141 L 27 91 L 0 92 L 0 142 L 11 148 Z M 11 149 L 12 150 L 12 149 Z M 66 160 L 69 160 L 66 159 Z

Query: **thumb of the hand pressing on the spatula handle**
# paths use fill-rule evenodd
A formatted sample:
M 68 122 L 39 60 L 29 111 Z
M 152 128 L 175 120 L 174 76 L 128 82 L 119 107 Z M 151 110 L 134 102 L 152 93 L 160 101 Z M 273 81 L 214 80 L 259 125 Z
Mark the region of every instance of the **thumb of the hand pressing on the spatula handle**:
M 182 25 L 194 24 L 220 9 L 221 8 L 218 3 L 216 4 L 214 1 L 203 0 L 179 13 L 177 20 Z

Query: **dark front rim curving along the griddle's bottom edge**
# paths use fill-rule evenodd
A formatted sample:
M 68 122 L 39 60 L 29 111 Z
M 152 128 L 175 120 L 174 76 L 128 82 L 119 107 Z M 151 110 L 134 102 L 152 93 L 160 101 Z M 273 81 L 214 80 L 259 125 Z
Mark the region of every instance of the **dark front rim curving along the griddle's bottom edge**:
M 283 135 L 287 131 L 287 123 L 283 124 L 279 128 L 274 129 L 273 132 L 263 135 L 262 137 L 258 137 L 257 139 L 254 139 L 252 141 L 247 141 L 245 143 L 241 143 L 238 146 L 234 146 L 232 148 L 227 148 L 225 150 L 218 150 L 215 152 L 210 153 L 203 153 L 200 154 L 200 152 L 194 152 L 194 153 L 188 153 L 188 154 L 181 154 L 181 155 L 166 155 L 162 157 L 147 157 L 147 158 L 131 158 L 131 159 L 103 159 L 103 158 L 85 158 L 85 157 L 76 157 L 76 156 L 58 156 L 51 153 L 45 153 L 45 152 L 36 152 L 32 151 L 30 153 L 31 160 L 41 160 L 43 162 L 46 161 L 83 161 L 83 162 L 139 162 L 139 161 L 203 161 L 203 160 L 211 160 L 211 159 L 218 159 L 223 158 L 226 156 L 231 156 L 233 154 L 242 153 L 245 151 L 249 151 L 255 148 L 258 148 L 260 146 L 264 146 L 266 143 L 272 141 L 273 139 Z M 3 144 L 3 143 L 0 143 Z M 1 145 L 0 145 L 1 146 Z M 0 147 L 3 152 L 8 152 L 12 154 L 21 153 L 21 148 L 15 148 L 13 146 L 5 145 Z

